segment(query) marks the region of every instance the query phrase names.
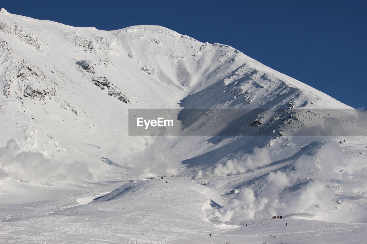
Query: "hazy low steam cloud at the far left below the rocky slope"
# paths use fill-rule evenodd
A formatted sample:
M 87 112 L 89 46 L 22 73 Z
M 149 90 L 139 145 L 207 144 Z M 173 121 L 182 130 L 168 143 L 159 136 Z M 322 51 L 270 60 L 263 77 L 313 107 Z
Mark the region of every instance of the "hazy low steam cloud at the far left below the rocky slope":
M 12 178 L 28 182 L 92 179 L 86 163 L 65 163 L 44 158 L 39 152 L 21 151 L 14 139 L 9 140 L 6 147 L 0 148 L 0 166 Z

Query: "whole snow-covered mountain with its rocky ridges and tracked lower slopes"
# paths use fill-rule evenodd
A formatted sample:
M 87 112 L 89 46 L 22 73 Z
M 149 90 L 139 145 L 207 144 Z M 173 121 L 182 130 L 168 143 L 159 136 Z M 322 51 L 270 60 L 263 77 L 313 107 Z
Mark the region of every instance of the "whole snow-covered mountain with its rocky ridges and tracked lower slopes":
M 232 47 L 2 8 L 0 77 L 6 243 L 360 243 L 367 229 L 365 115 Z M 213 109 L 179 119 L 215 133 L 128 136 L 131 108 Z

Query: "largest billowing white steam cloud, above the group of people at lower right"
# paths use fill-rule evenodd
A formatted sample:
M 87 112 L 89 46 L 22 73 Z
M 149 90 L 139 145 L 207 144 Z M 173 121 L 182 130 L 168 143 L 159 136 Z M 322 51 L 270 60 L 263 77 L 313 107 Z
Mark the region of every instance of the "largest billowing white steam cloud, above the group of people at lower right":
M 336 189 L 339 189 L 337 182 L 353 180 L 350 174 L 339 170 L 344 166 L 346 164 L 339 147 L 324 145 L 315 157 L 301 156 L 292 169 L 270 172 L 261 193 L 255 194 L 251 188 L 241 189 L 226 206 L 212 212 L 208 219 L 214 223 L 243 225 L 271 216 L 330 209 L 335 207 L 335 200 L 338 199 L 335 196 Z M 366 177 L 358 178 L 356 182 L 365 185 Z M 344 194 L 350 192 L 344 189 Z

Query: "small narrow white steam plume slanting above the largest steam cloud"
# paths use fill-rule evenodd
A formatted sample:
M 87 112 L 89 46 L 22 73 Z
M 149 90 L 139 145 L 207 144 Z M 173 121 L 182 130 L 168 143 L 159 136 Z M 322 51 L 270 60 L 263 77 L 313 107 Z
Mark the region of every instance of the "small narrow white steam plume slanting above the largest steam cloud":
M 254 153 L 244 160 L 230 159 L 224 164 L 217 164 L 214 169 L 206 171 L 198 170 L 192 177 L 193 180 L 223 177 L 227 175 L 243 174 L 248 170 L 254 170 L 258 167 L 264 167 L 272 162 L 270 158 L 270 151 L 267 148 L 253 149 Z

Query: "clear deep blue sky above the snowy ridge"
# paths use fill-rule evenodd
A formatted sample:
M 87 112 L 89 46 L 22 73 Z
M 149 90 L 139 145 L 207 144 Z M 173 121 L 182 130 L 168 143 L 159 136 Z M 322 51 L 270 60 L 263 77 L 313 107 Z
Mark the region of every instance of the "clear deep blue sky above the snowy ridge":
M 160 25 L 367 107 L 367 1 L 2 1 L 12 14 L 115 30 Z

